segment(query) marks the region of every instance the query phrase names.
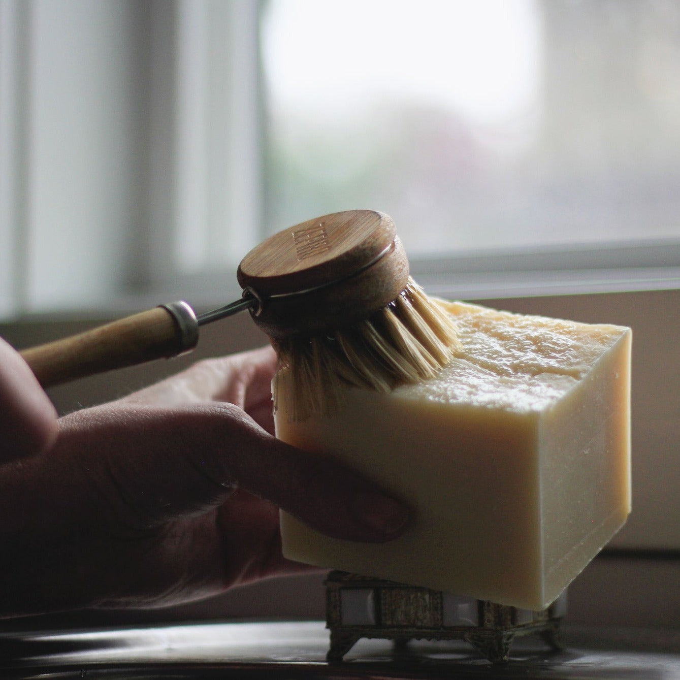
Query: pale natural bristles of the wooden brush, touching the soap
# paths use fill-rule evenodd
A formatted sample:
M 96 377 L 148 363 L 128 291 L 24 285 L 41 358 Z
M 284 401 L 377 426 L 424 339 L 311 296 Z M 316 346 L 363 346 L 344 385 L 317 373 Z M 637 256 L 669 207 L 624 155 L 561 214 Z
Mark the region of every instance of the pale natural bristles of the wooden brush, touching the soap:
M 409 277 L 407 287 L 371 318 L 333 334 L 273 341 L 288 373 L 288 418 L 328 415 L 342 386 L 377 392 L 434 377 L 458 349 L 456 326 Z M 278 375 L 273 381 L 278 408 Z

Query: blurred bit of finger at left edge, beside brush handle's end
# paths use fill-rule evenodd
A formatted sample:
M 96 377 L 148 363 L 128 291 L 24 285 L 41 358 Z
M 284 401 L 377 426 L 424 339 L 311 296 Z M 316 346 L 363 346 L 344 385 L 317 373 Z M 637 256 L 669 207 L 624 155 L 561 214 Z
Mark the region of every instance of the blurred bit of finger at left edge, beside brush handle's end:
M 37 455 L 58 432 L 56 411 L 35 375 L 0 338 L 0 462 Z

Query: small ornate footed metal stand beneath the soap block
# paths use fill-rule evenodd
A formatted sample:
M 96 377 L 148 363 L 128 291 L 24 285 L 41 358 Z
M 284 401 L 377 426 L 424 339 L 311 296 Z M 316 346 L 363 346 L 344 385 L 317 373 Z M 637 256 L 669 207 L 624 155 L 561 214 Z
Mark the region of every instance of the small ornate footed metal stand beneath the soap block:
M 509 659 L 515 638 L 540 635 L 561 649 L 559 626 L 566 594 L 543 611 L 333 571 L 326 578 L 329 663 L 340 663 L 362 638 L 384 638 L 403 649 L 409 640 L 464 640 L 488 660 Z

